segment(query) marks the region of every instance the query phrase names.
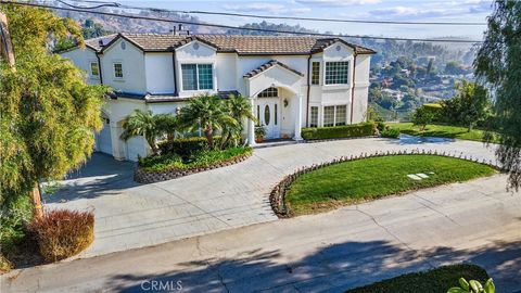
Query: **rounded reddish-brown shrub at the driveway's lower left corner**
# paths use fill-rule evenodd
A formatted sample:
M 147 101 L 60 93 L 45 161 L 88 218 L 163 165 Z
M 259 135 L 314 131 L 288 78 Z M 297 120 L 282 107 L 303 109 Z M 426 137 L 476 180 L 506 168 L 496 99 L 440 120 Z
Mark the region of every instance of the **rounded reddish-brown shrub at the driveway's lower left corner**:
M 34 219 L 29 230 L 38 240 L 40 253 L 47 262 L 56 262 L 76 255 L 94 240 L 92 212 L 55 209 Z

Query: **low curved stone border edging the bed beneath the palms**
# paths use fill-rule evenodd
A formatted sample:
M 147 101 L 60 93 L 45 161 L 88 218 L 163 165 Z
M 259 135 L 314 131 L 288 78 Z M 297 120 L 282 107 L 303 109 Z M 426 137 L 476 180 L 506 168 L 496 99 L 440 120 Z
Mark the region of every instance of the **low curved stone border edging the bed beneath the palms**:
M 237 163 L 240 163 L 252 155 L 253 152 L 246 152 L 244 154 L 237 155 L 231 157 L 227 161 L 219 162 L 215 165 L 204 166 L 204 167 L 195 167 L 191 169 L 167 169 L 167 170 L 143 170 L 139 167 L 134 171 L 134 180 L 138 183 L 154 183 L 170 179 L 176 179 L 179 177 L 183 177 L 187 175 L 216 169 L 220 167 L 230 166 Z

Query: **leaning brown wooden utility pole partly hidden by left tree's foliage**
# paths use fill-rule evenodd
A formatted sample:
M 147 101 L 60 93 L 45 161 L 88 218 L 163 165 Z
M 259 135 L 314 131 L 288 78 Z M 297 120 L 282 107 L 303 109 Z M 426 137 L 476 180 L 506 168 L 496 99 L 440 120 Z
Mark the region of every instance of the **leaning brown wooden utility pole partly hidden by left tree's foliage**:
M 14 62 L 14 52 L 13 44 L 11 43 L 11 35 L 9 34 L 8 28 L 8 17 L 5 14 L 0 12 L 0 56 L 8 62 L 8 65 L 12 71 L 16 71 Z M 33 213 L 36 218 L 41 218 L 43 216 L 43 209 L 41 207 L 41 194 L 40 186 L 36 181 L 33 191 L 30 192 L 30 198 L 33 200 Z

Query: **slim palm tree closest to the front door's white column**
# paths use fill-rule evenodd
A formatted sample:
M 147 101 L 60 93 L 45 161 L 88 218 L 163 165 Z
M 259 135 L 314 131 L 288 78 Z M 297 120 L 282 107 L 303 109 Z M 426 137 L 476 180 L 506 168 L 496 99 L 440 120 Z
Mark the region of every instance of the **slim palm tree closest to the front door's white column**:
M 236 119 L 238 123 L 236 127 L 225 127 L 223 129 L 223 143 L 221 146 L 227 146 L 230 140 L 237 136 L 240 136 L 244 130 L 244 125 L 242 122 L 244 118 L 257 122 L 257 118 L 252 112 L 252 106 L 246 98 L 242 95 L 233 95 L 225 103 L 226 109 L 229 112 L 229 115 Z

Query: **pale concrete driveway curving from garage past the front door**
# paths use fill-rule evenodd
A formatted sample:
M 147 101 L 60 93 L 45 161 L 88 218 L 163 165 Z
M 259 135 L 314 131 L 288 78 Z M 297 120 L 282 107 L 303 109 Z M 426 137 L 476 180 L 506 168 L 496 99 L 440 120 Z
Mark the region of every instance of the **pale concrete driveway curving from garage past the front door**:
M 46 207 L 94 211 L 96 240 L 79 256 L 91 257 L 276 220 L 268 194 L 296 168 L 342 155 L 418 148 L 494 160 L 494 150 L 480 142 L 355 139 L 257 149 L 237 165 L 137 184 L 132 164 L 94 154 L 60 192 L 46 196 Z

